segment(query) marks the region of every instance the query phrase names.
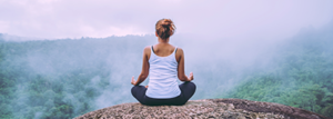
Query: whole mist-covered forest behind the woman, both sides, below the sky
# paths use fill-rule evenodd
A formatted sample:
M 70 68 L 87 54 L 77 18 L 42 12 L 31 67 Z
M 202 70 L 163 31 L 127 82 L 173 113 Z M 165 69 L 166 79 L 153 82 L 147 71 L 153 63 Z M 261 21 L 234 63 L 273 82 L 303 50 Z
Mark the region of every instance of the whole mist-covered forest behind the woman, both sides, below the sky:
M 333 118 L 332 32 L 333 23 L 275 42 L 231 44 L 181 34 L 171 42 L 184 49 L 185 70 L 194 72 L 192 99 L 278 102 Z M 154 36 L 34 41 L 4 36 L 0 118 L 73 118 L 135 102 L 130 78 L 140 73 L 143 48 L 157 42 Z

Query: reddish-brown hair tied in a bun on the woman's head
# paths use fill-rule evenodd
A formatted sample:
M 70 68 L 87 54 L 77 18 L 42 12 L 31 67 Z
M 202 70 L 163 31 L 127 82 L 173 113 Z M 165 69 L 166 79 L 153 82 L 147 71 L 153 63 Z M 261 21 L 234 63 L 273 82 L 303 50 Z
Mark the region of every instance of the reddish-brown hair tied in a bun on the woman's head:
M 155 24 L 157 33 L 162 40 L 167 40 L 174 33 L 175 27 L 171 19 L 161 19 Z

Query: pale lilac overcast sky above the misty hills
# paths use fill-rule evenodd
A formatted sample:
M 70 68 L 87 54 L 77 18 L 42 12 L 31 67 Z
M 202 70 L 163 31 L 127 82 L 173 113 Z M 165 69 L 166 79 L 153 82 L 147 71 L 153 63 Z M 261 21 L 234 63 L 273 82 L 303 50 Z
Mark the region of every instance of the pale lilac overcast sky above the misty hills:
M 0 33 L 36 38 L 153 34 L 170 18 L 176 33 L 287 38 L 333 20 L 333 0 L 0 0 Z

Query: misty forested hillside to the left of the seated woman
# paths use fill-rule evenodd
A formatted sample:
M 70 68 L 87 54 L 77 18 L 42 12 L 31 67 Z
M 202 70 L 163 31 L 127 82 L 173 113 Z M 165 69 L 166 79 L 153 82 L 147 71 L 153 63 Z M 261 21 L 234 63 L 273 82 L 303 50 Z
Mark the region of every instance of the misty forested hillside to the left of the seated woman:
M 0 36 L 0 118 L 69 119 L 131 100 L 120 81 L 137 75 L 141 60 L 124 61 L 140 59 L 150 38 L 11 42 Z

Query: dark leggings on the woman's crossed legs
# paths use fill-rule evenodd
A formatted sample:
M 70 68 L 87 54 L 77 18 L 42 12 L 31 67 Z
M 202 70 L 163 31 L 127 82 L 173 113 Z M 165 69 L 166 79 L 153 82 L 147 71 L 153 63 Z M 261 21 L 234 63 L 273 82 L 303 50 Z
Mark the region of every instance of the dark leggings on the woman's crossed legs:
M 188 102 L 188 100 L 194 95 L 195 92 L 195 85 L 193 82 L 184 82 L 179 85 L 181 90 L 181 95 L 170 99 L 155 99 L 145 96 L 147 88 L 143 86 L 134 86 L 132 88 L 133 97 L 142 105 L 147 106 L 182 106 Z

